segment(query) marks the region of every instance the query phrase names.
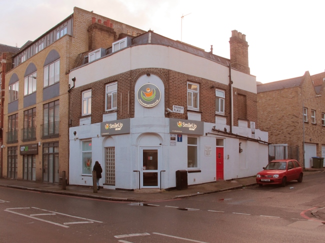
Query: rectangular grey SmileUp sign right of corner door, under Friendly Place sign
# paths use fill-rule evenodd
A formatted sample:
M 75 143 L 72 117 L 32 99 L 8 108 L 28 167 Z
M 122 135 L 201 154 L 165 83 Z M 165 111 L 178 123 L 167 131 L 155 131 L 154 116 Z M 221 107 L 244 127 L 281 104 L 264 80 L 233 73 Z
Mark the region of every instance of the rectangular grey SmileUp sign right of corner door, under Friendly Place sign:
M 203 126 L 201 121 L 169 118 L 169 133 L 203 135 Z

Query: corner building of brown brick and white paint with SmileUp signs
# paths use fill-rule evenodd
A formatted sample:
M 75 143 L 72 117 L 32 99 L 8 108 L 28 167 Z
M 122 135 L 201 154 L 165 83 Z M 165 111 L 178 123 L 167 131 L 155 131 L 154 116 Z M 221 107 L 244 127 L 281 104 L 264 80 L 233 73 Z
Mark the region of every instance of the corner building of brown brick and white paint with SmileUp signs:
M 95 161 L 108 189 L 173 188 L 178 170 L 186 185 L 256 174 L 267 164 L 256 79 L 245 35 L 229 43 L 226 59 L 148 31 L 81 53 L 69 73 L 70 184 L 92 185 Z

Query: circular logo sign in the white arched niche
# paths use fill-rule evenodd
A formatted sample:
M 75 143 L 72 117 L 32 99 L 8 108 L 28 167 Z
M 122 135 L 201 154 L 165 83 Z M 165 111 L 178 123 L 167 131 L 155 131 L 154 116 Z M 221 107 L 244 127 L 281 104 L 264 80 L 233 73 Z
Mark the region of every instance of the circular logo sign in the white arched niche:
M 143 84 L 137 90 L 137 101 L 144 107 L 150 108 L 159 103 L 161 98 L 160 90 L 152 83 Z

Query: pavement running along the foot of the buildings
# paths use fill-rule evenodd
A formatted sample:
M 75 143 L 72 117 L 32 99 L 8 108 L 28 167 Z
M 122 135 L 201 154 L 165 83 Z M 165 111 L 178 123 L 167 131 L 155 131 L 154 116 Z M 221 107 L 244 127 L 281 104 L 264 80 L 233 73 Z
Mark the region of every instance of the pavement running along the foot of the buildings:
M 304 176 L 323 171 L 324 169 L 308 169 L 304 171 Z M 137 189 L 134 191 L 122 191 L 100 188 L 97 193 L 93 193 L 93 188 L 89 186 L 67 185 L 66 190 L 62 190 L 62 186 L 56 184 L 0 178 L 0 187 L 120 202 L 154 202 L 181 199 L 235 190 L 254 185 L 256 185 L 255 177 L 246 177 L 228 181 L 216 181 L 200 185 L 190 185 L 187 187 L 187 189 L 183 190 L 166 191 L 163 189 Z M 323 211 L 325 212 L 325 207 Z

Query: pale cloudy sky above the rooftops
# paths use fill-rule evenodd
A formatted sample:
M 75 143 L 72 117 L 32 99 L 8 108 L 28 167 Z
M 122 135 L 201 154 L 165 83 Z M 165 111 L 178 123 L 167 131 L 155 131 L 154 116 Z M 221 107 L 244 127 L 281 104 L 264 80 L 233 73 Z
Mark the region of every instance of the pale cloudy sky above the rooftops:
M 35 40 L 74 6 L 205 51 L 213 45 L 225 58 L 235 29 L 246 35 L 250 74 L 262 83 L 325 71 L 323 0 L 0 0 L 0 43 Z

